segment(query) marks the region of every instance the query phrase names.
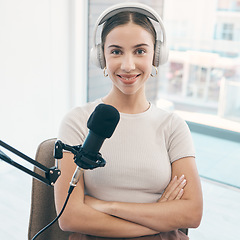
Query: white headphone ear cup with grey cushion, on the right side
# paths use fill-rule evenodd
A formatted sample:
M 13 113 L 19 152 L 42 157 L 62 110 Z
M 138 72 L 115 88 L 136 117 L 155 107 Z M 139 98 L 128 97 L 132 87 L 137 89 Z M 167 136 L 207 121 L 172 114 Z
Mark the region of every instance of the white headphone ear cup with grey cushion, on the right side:
M 153 59 L 153 66 L 158 67 L 166 63 L 168 60 L 168 48 L 166 44 L 163 44 L 160 40 L 156 41 L 155 52 Z

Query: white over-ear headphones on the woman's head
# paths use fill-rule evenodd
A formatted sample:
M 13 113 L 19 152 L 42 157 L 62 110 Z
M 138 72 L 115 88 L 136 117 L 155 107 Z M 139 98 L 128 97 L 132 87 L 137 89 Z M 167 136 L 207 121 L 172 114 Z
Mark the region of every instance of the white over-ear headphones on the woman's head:
M 97 29 L 98 26 L 103 24 L 105 21 L 107 21 L 110 17 L 114 16 L 117 13 L 125 12 L 125 11 L 131 11 L 131 12 L 138 12 L 141 13 L 154 21 L 158 22 L 161 30 L 162 30 L 162 41 L 156 40 L 155 43 L 155 52 L 154 52 L 154 59 L 153 59 L 153 66 L 158 67 L 159 65 L 162 65 L 167 62 L 168 59 L 168 48 L 166 44 L 166 32 L 163 25 L 163 22 L 158 15 L 158 13 L 150 8 L 149 6 L 141 3 L 120 3 L 113 5 L 106 9 L 97 19 L 95 28 L 94 28 L 94 35 L 93 35 L 93 47 L 91 49 L 90 53 L 90 59 L 93 64 L 95 64 L 97 67 L 100 67 L 101 69 L 106 67 L 106 62 L 104 58 L 104 53 L 102 49 L 102 44 L 96 43 L 96 35 L 97 35 Z

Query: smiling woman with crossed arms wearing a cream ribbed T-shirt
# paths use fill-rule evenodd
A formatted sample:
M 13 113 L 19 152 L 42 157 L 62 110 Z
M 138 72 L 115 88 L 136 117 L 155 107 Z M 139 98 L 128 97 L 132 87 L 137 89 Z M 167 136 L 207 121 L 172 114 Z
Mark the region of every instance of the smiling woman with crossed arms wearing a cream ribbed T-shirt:
M 152 74 L 156 31 L 139 12 L 122 11 L 102 30 L 105 76 L 111 91 L 102 99 L 73 109 L 59 138 L 79 145 L 86 122 L 100 104 L 114 106 L 120 122 L 101 154 L 104 168 L 85 171 L 59 220 L 71 239 L 158 237 L 188 239 L 179 228 L 196 228 L 202 216 L 202 193 L 186 123 L 149 103 L 145 84 Z M 61 210 L 76 165 L 65 152 L 55 185 Z

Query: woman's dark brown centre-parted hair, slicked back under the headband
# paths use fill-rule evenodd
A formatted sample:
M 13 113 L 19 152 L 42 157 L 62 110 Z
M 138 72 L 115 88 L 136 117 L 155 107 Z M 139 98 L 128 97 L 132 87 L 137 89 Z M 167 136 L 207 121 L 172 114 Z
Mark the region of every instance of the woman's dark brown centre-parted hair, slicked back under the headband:
M 135 23 L 143 27 L 145 30 L 147 30 L 152 35 L 153 42 L 155 45 L 156 37 L 157 37 L 156 30 L 153 24 L 151 23 L 151 21 L 148 19 L 148 17 L 138 12 L 126 11 L 126 12 L 120 12 L 112 16 L 104 23 L 102 34 L 101 34 L 102 48 L 104 48 L 106 37 L 111 30 L 113 30 L 115 27 L 118 27 L 120 25 L 125 25 L 129 22 Z

